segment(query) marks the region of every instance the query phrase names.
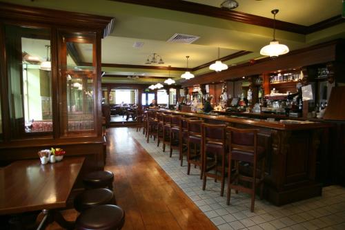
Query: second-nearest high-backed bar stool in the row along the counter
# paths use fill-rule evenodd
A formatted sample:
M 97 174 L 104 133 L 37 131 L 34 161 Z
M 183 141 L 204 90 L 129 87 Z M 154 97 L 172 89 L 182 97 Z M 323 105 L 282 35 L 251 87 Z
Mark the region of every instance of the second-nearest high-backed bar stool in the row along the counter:
M 203 124 L 203 184 L 202 190 L 206 189 L 206 178 L 219 178 L 221 180 L 220 195 L 224 195 L 226 176 L 226 125 Z M 220 174 L 220 175 L 219 175 Z

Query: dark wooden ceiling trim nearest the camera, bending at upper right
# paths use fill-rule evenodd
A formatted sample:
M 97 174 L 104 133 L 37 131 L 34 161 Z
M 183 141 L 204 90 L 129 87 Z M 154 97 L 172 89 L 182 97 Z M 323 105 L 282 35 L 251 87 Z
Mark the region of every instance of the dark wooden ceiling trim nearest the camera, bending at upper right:
M 260 17 L 257 15 L 250 15 L 244 12 L 239 12 L 237 10 L 222 10 L 214 6 L 208 6 L 200 3 L 194 3 L 189 1 L 180 0 L 110 0 L 110 1 L 120 1 L 124 3 L 132 3 L 141 6 L 152 6 L 155 8 L 164 8 L 168 10 L 177 10 L 181 12 L 189 12 L 197 15 L 206 15 L 209 17 L 217 17 L 220 19 L 226 19 L 229 21 L 238 21 L 242 23 L 247 23 L 255 26 L 264 26 L 267 28 L 273 28 L 273 19 L 267 17 Z M 339 23 L 345 22 L 345 19 L 341 15 L 337 15 L 330 19 L 320 21 L 311 26 L 303 26 L 296 23 L 289 23 L 286 21 L 276 21 L 277 30 L 284 30 L 288 32 L 295 32 L 302 35 L 308 35 L 312 32 L 318 30 L 323 30 L 325 28 L 335 26 Z

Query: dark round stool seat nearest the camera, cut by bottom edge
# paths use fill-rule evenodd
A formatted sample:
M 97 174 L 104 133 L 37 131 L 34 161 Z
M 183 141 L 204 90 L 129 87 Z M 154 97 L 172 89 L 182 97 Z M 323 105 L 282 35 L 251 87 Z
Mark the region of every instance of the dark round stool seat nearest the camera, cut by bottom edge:
M 125 212 L 116 205 L 103 204 L 83 211 L 76 222 L 78 230 L 117 230 L 124 226 Z

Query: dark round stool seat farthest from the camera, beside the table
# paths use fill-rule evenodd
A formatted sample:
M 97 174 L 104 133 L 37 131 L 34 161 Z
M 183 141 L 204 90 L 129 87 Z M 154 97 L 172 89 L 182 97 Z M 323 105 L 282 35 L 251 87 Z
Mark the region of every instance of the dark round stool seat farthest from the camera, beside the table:
M 83 178 L 83 183 L 92 189 L 104 188 L 106 186 L 112 189 L 112 181 L 114 180 L 114 173 L 110 171 L 95 171 L 88 173 Z

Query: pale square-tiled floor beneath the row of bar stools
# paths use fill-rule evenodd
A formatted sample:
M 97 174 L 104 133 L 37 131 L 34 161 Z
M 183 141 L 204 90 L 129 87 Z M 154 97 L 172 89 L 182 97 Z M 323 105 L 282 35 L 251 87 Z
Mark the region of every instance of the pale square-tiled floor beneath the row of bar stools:
M 135 128 L 128 130 L 219 229 L 345 229 L 345 188 L 341 186 L 325 187 L 322 197 L 282 207 L 257 198 L 251 213 L 248 195 L 233 193 L 230 205 L 226 205 L 226 195 L 219 196 L 220 183 L 209 179 L 203 191 L 199 169 L 192 167 L 187 175 L 186 162 L 179 166 L 177 151 L 170 158 L 168 147 L 164 153 L 157 142 L 150 140 L 147 144 L 141 132 L 137 133 Z

